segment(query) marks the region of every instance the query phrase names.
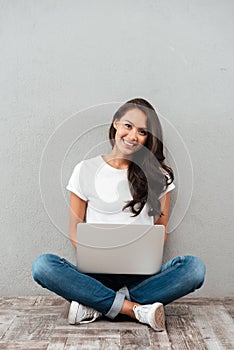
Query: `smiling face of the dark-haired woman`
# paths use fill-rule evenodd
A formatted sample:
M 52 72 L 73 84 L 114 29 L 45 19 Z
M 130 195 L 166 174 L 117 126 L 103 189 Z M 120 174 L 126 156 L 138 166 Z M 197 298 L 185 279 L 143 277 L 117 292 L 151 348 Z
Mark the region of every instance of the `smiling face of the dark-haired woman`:
M 127 111 L 114 121 L 115 148 L 125 156 L 138 151 L 147 140 L 147 117 L 139 109 Z

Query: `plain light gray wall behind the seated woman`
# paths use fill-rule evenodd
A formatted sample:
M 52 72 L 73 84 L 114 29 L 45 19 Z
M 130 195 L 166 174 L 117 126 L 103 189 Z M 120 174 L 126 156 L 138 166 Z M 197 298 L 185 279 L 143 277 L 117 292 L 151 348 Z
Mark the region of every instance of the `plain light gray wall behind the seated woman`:
M 48 293 L 31 277 L 41 253 L 74 261 L 64 187 L 136 96 L 167 121 L 176 168 L 165 259 L 201 257 L 196 295 L 233 294 L 233 10 L 232 0 L 0 1 L 2 295 Z

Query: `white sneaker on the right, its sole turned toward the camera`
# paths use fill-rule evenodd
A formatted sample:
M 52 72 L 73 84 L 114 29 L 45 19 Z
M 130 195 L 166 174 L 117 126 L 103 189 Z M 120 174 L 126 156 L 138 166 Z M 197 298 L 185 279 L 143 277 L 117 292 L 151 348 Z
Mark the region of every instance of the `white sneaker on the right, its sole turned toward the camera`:
M 134 305 L 133 312 L 138 321 L 150 325 L 155 331 L 165 330 L 163 304 Z

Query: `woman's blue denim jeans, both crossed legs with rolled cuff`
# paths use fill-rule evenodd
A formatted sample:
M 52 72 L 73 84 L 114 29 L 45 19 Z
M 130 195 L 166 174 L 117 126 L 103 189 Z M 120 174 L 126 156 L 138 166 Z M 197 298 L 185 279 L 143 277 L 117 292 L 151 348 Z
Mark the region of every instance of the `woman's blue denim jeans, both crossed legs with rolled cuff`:
M 119 314 L 125 299 L 166 305 L 193 292 L 202 286 L 205 270 L 203 262 L 194 256 L 178 256 L 154 275 L 84 274 L 53 254 L 40 255 L 32 266 L 33 278 L 42 287 L 111 319 Z

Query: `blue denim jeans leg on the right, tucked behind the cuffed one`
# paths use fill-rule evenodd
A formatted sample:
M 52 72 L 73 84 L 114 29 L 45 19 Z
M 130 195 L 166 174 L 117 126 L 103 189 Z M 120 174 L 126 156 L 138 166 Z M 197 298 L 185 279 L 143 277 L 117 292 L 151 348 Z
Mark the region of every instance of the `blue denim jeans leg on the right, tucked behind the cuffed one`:
M 163 265 L 161 272 L 130 286 L 131 300 L 140 304 L 158 301 L 166 305 L 200 288 L 205 271 L 204 263 L 197 257 L 176 257 Z

